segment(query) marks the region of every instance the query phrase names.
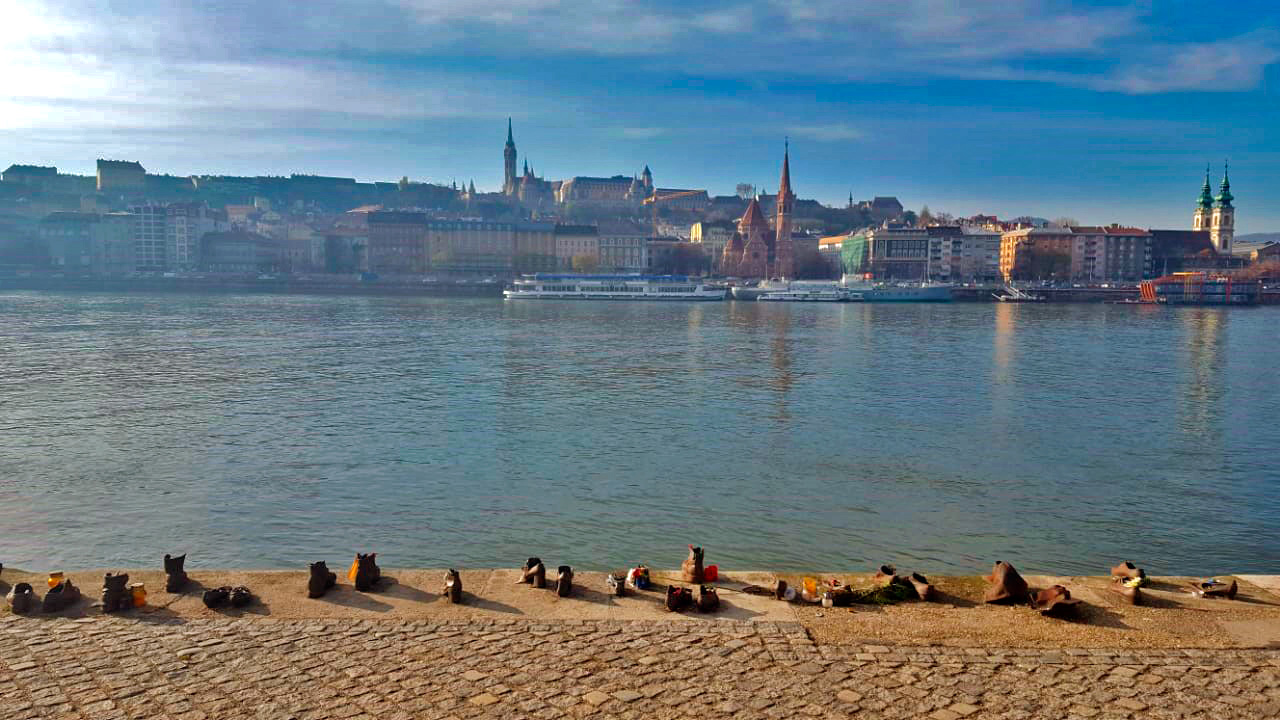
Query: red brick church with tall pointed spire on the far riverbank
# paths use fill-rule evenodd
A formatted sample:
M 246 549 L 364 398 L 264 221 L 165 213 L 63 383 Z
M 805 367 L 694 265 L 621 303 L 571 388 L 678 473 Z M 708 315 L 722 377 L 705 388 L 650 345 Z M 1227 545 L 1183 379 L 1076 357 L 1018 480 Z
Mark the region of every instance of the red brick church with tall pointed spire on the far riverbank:
M 790 278 L 795 274 L 795 249 L 791 243 L 791 211 L 796 196 L 791 192 L 791 149 L 782 151 L 782 179 L 778 182 L 777 228 L 769 229 L 769 222 L 760 211 L 760 204 L 753 197 L 742 219 L 737 222 L 737 232 L 724 245 L 721 259 L 721 272 L 740 278 Z

